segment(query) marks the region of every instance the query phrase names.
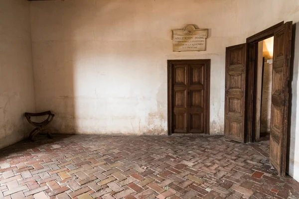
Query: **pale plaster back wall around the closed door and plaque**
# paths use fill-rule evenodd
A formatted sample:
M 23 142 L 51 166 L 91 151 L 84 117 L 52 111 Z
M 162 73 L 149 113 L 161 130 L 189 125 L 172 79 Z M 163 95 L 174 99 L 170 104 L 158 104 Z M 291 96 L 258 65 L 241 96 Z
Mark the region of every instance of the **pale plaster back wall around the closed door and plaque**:
M 211 59 L 210 133 L 222 134 L 225 47 L 282 20 L 298 21 L 298 5 L 298 0 L 33 1 L 37 110 L 53 110 L 53 125 L 64 133 L 166 134 L 166 60 Z M 171 29 L 186 24 L 209 28 L 205 52 L 172 52 Z

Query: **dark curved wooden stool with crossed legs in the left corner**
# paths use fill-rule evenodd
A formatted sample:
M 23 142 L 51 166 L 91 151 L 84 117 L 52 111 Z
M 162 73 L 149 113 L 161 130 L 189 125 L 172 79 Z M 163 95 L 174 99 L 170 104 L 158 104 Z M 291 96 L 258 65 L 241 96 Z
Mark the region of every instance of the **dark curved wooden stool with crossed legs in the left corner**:
M 31 117 L 38 117 L 38 116 L 45 116 L 48 115 L 48 117 L 42 121 L 42 122 L 34 122 L 31 121 Z M 38 113 L 31 113 L 31 112 L 25 112 L 25 117 L 27 121 L 34 126 L 35 128 L 30 132 L 29 139 L 33 141 L 33 138 L 35 135 L 37 135 L 40 132 L 46 132 L 48 138 L 52 138 L 52 134 L 50 131 L 46 130 L 45 127 L 51 123 L 51 121 L 54 118 L 54 114 L 51 111 L 45 111 L 45 112 L 38 112 Z

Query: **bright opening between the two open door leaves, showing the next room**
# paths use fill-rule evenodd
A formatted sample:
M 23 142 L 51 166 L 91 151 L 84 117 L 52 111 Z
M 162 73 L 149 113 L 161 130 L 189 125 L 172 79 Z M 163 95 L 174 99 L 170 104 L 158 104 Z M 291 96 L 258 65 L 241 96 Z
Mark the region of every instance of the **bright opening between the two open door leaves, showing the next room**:
M 256 141 L 270 139 L 273 47 L 274 37 L 258 43 Z

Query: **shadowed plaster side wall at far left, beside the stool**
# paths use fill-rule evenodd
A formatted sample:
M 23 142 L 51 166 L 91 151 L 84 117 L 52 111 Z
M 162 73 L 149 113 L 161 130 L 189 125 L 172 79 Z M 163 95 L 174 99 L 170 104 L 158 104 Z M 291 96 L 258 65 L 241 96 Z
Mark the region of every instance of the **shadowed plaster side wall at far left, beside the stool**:
M 0 148 L 23 139 L 35 111 L 30 10 L 27 0 L 0 0 Z

